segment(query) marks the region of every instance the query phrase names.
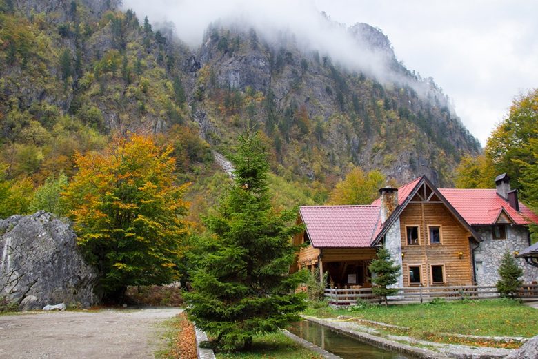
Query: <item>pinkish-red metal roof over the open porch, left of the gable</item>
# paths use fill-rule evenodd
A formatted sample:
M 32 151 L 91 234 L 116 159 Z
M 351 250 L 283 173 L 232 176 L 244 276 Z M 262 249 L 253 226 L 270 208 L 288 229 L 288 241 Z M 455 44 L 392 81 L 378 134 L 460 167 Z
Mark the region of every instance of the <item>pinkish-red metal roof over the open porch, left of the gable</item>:
M 379 226 L 379 206 L 301 206 L 312 246 L 370 247 Z

